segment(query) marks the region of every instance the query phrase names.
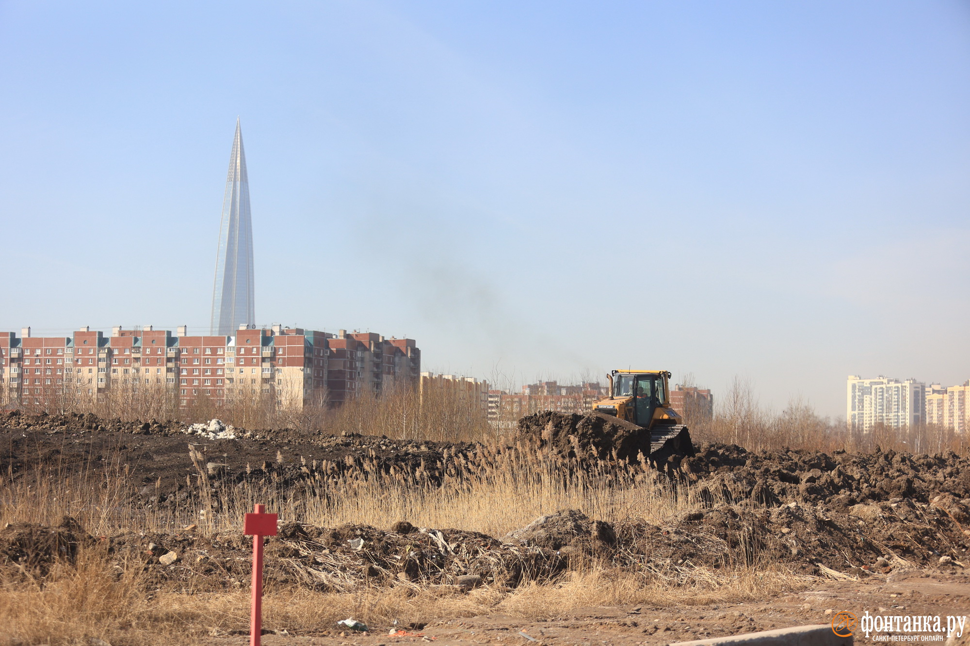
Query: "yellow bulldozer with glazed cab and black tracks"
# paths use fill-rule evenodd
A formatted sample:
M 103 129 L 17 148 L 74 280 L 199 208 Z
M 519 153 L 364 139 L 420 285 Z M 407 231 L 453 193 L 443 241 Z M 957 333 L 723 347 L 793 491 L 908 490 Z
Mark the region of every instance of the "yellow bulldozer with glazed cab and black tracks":
M 668 371 L 612 371 L 609 397 L 593 404 L 593 412 L 624 420 L 650 434 L 650 464 L 675 467 L 696 451 L 683 418 L 670 407 Z

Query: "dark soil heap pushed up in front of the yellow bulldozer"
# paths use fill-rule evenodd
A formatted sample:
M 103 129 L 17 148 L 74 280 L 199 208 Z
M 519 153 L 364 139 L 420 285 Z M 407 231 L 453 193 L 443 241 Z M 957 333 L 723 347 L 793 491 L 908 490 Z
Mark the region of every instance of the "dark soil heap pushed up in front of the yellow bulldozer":
M 642 462 L 650 453 L 650 434 L 609 415 L 544 410 L 519 420 L 518 440 L 549 447 L 569 459 Z

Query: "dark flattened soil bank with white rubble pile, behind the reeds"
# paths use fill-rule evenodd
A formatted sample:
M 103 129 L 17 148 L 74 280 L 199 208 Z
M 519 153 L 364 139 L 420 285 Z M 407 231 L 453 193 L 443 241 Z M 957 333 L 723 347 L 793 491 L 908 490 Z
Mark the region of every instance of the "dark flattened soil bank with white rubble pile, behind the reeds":
M 178 422 L 120 422 L 93 415 L 14 411 L 0 416 L 0 472 L 27 484 L 50 474 L 61 481 L 123 475 L 142 503 L 166 508 L 199 496 L 206 484 L 215 490 L 248 482 L 299 494 L 322 479 L 336 479 L 348 471 L 437 482 L 449 469 L 461 468 L 461 459 L 467 463 L 480 448 L 471 443 L 287 430 L 235 429 L 234 438 L 219 435 L 198 435 Z

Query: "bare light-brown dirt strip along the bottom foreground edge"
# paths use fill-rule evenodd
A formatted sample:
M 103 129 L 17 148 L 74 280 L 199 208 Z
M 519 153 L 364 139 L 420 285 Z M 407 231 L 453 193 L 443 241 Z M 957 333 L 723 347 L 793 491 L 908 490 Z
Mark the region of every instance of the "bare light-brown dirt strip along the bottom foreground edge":
M 341 646 L 435 642 L 441 646 L 465 644 L 667 644 L 670 642 L 717 637 L 757 630 L 771 630 L 828 624 L 833 612 L 849 611 L 861 617 L 865 611 L 881 615 L 940 615 L 946 625 L 948 615 L 970 615 L 970 576 L 900 572 L 888 580 L 868 582 L 838 581 L 811 590 L 763 602 L 729 605 L 590 607 L 569 612 L 549 621 L 485 615 L 435 621 L 422 630 L 388 634 L 392 627 L 371 627 L 368 633 L 344 632 L 332 627 L 318 634 L 267 634 L 267 646 Z M 970 625 L 966 626 L 970 631 Z M 915 633 L 934 635 L 932 632 Z M 528 636 L 526 636 L 528 635 Z M 917 643 L 948 643 L 946 630 L 935 633 L 935 640 Z M 919 639 L 919 637 L 918 637 Z M 533 641 L 534 640 L 534 641 Z M 247 636 L 213 637 L 206 646 L 236 646 L 248 643 Z M 856 631 L 856 643 L 875 643 Z M 970 644 L 967 635 L 949 644 Z

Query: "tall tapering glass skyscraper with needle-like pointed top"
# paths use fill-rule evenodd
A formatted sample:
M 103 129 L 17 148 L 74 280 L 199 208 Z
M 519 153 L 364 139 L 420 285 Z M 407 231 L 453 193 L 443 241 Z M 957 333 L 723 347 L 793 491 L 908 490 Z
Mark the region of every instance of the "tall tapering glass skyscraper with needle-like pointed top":
M 248 327 L 255 324 L 249 178 L 246 177 L 242 130 L 237 118 L 226 194 L 222 200 L 219 248 L 215 257 L 211 334 L 232 335 L 241 325 Z

